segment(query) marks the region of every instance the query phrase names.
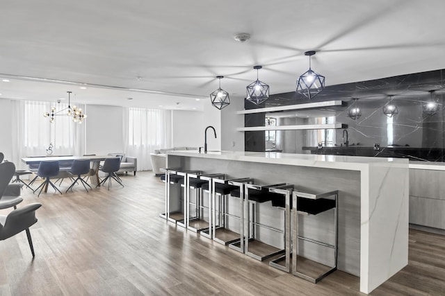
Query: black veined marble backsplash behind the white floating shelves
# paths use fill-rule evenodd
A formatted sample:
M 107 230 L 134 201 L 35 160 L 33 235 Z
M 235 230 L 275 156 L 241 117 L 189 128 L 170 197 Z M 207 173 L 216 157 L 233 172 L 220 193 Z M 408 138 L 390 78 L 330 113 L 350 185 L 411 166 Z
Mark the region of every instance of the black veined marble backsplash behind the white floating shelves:
M 276 118 L 278 125 L 345 123 L 347 132 L 278 131 L 275 148 L 284 153 L 409 157 L 442 162 L 445 161 L 444 71 L 332 85 L 310 101 L 296 92 L 274 94 L 261 107 L 330 100 L 341 100 L 343 106 L 246 114 L 245 126 L 264 125 L 266 117 Z M 382 111 L 389 101 L 398 108 L 398 114 L 392 117 Z M 434 103 L 436 107 L 431 111 L 426 107 L 428 103 Z M 251 103 L 245 105 L 246 109 L 254 107 L 257 106 Z M 358 119 L 348 116 L 348 111 L 355 107 L 361 110 Z M 265 150 L 264 142 L 264 132 L 245 132 L 245 150 Z

